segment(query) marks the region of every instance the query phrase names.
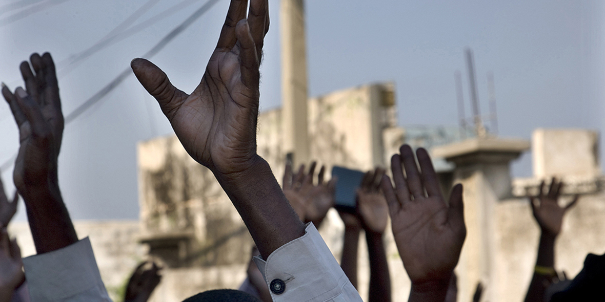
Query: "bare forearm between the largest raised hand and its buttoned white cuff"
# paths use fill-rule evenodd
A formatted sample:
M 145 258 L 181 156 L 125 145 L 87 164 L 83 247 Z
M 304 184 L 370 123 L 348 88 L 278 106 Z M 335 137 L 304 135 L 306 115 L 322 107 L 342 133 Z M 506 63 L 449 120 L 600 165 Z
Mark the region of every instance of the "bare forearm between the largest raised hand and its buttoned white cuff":
M 250 167 L 237 175 L 215 176 L 246 223 L 263 259 L 304 235 L 304 224 L 290 207 L 269 164 L 260 156 L 255 156 Z

